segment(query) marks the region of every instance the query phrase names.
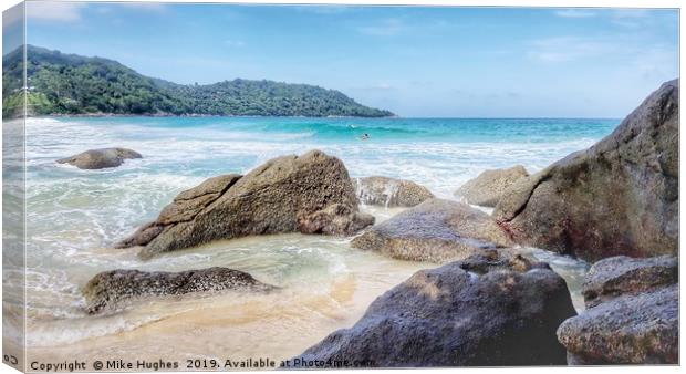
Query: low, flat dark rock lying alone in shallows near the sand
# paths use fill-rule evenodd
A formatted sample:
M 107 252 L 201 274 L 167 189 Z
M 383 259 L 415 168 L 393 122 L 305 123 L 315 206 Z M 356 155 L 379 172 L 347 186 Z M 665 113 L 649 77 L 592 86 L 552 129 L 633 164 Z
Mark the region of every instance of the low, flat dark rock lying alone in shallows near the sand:
M 145 272 L 138 270 L 104 271 L 93 277 L 83 289 L 90 314 L 114 312 L 126 304 L 150 297 L 183 295 L 224 290 L 269 291 L 274 289 L 252 276 L 227 268 L 209 268 L 181 272 Z

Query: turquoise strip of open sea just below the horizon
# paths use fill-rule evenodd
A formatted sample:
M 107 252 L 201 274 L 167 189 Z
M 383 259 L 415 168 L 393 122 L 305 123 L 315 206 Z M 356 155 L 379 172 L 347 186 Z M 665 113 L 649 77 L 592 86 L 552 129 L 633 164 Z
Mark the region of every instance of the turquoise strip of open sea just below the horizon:
M 619 124 L 619 120 L 607 118 L 65 117 L 58 121 L 86 122 L 93 126 L 136 124 L 150 129 L 199 129 L 262 141 L 308 138 L 325 143 L 354 141 L 365 133 L 372 136 L 371 143 L 549 143 L 596 138 Z

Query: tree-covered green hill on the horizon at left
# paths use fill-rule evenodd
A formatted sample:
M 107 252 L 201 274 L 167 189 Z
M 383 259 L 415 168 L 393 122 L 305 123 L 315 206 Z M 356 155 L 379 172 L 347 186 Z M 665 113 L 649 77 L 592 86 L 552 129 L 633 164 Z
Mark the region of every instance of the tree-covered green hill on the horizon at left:
M 3 115 L 20 100 L 21 49 L 3 61 Z M 264 115 L 384 117 L 343 93 L 308 84 L 233 80 L 184 85 L 101 58 L 27 49 L 30 112 L 46 114 Z M 21 85 L 21 83 L 19 83 Z

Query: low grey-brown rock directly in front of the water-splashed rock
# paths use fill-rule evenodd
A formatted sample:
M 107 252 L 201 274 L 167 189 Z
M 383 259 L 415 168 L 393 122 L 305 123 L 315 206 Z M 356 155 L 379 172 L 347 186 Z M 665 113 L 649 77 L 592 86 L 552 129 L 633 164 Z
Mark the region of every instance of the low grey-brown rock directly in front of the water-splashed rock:
M 436 198 L 368 228 L 352 241 L 354 248 L 392 258 L 436 263 L 510 245 L 507 232 L 487 214 Z

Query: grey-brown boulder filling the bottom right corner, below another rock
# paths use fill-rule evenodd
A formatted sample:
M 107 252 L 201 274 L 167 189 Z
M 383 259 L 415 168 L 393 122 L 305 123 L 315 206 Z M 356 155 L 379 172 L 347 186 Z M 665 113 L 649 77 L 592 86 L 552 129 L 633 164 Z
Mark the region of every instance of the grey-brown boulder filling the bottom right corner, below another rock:
M 572 365 L 677 364 L 678 284 L 600 303 L 560 325 Z

